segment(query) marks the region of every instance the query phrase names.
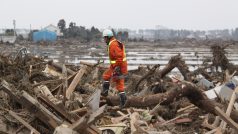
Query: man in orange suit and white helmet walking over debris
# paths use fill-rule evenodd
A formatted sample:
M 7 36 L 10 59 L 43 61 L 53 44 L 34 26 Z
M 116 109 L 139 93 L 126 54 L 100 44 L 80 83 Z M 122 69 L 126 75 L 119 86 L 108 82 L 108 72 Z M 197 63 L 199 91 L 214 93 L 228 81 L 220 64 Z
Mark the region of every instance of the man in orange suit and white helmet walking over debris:
M 125 45 L 118 41 L 113 32 L 109 29 L 103 31 L 103 38 L 108 46 L 108 55 L 110 67 L 103 74 L 103 91 L 102 95 L 107 96 L 110 87 L 110 80 L 116 83 L 116 89 L 119 91 L 120 107 L 123 108 L 126 103 L 126 94 L 124 91 L 124 79 L 127 75 L 127 60 Z

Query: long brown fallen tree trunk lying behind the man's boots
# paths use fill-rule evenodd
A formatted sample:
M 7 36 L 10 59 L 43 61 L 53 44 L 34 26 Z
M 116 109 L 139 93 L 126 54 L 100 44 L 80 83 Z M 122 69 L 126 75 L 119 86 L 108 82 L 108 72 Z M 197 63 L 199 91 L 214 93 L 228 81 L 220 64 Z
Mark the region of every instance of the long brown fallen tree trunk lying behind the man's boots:
M 197 106 L 200 109 L 205 110 L 206 112 L 213 113 L 215 112 L 215 106 L 222 107 L 223 105 L 217 102 L 214 102 L 208 99 L 201 90 L 198 89 L 196 85 L 192 83 L 186 84 L 184 88 L 178 88 L 166 93 L 153 94 L 147 96 L 129 96 L 126 102 L 125 107 L 152 107 L 157 104 L 168 105 L 174 102 L 176 99 L 181 97 L 187 97 L 191 103 Z M 119 105 L 118 96 L 108 96 L 106 97 L 106 103 L 109 106 Z M 231 118 L 238 122 L 238 112 L 233 110 L 231 112 Z

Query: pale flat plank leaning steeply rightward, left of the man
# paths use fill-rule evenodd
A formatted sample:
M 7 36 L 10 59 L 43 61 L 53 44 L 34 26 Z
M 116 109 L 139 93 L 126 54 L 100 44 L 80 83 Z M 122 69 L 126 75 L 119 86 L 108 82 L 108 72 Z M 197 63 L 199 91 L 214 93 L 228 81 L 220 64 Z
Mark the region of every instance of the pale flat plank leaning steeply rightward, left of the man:
M 75 90 L 75 87 L 78 85 L 80 79 L 83 77 L 84 73 L 86 72 L 87 66 L 82 66 L 82 68 L 78 71 L 76 76 L 74 77 L 73 81 L 69 85 L 69 88 L 66 90 L 66 98 L 69 99 L 70 95 Z

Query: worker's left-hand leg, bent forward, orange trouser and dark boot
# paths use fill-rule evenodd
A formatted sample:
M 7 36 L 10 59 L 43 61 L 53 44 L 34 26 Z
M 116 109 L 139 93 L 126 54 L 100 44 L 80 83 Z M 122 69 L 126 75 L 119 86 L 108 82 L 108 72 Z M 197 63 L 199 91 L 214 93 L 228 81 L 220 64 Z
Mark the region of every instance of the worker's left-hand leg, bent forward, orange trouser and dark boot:
M 108 95 L 108 90 L 110 87 L 110 79 L 112 77 L 112 72 L 113 70 L 111 68 L 107 69 L 104 73 L 103 73 L 103 91 L 102 91 L 102 95 L 103 96 L 107 96 Z

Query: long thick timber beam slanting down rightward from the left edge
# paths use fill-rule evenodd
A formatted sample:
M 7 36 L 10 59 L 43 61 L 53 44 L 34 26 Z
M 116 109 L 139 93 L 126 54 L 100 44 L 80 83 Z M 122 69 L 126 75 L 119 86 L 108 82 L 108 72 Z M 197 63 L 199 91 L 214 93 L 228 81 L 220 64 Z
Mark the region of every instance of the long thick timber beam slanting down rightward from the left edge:
M 17 90 L 10 86 L 5 80 L 1 81 L 1 89 L 6 92 L 12 99 L 19 102 L 26 109 L 34 114 L 45 124 L 55 128 L 62 124 L 62 120 L 52 114 L 48 109 L 41 105 L 37 100 L 31 97 L 26 91 L 17 92 Z

